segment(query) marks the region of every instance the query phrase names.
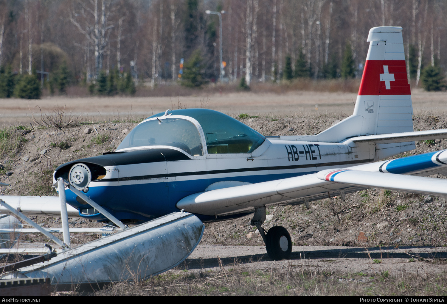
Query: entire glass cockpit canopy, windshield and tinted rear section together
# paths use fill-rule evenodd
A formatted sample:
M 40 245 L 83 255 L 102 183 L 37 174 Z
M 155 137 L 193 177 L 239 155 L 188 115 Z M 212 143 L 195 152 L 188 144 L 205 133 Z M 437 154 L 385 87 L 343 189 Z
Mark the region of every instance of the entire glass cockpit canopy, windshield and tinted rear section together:
M 197 123 L 203 130 L 207 154 L 251 153 L 266 139 L 249 126 L 221 112 L 178 109 L 152 115 L 141 122 L 124 138 L 117 150 L 162 145 L 201 156 L 205 151 L 200 142 L 200 130 L 195 125 Z

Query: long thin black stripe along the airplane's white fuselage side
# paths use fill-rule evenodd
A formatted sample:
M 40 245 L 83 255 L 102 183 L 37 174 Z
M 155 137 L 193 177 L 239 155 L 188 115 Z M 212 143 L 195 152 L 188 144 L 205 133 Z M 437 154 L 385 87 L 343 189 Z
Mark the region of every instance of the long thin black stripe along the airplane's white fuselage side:
M 323 163 L 313 163 L 313 164 L 304 164 L 304 165 L 295 165 L 295 166 L 236 168 L 236 169 L 198 171 L 198 172 L 177 172 L 177 173 L 167 173 L 167 174 L 118 177 L 116 179 L 98 179 L 98 180 L 95 180 L 94 182 L 118 182 L 118 181 L 141 180 L 141 179 L 161 179 L 161 178 L 168 178 L 168 177 L 173 177 L 173 176 L 211 175 L 211 174 L 267 171 L 267 170 L 290 170 L 290 169 L 301 169 L 301 168 L 311 168 L 311 167 L 317 168 L 317 167 L 326 167 L 326 166 L 352 165 L 352 164 L 372 162 L 372 161 L 374 161 L 374 159 L 360 159 L 360 160 L 352 160 L 352 161 L 346 161 L 346 162 L 323 162 Z

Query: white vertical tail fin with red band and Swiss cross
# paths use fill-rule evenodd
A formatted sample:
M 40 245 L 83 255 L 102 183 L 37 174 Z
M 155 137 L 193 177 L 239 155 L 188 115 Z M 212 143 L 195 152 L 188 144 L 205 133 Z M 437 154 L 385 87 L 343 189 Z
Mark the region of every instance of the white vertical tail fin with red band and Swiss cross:
M 318 140 L 413 131 L 413 107 L 402 28 L 370 29 L 370 42 L 354 114 L 318 134 Z

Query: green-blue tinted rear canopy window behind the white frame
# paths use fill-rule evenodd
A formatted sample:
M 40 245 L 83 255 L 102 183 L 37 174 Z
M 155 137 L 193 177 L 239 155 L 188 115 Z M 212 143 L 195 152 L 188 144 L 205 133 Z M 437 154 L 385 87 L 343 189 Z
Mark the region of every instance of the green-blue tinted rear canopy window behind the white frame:
M 209 109 L 179 109 L 171 115 L 193 117 L 202 126 L 208 154 L 251 153 L 266 139 L 248 125 Z M 164 113 L 152 117 L 163 116 Z M 151 118 L 152 118 L 151 117 Z

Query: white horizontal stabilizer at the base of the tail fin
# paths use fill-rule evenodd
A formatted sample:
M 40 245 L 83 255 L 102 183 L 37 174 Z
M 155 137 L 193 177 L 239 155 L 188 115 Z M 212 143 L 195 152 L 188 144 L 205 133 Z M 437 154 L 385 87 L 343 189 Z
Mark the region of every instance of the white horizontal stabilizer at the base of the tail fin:
M 447 138 L 447 129 L 358 136 L 352 137 L 349 140 L 352 142 L 388 144 L 394 142 L 415 142 L 443 138 Z

